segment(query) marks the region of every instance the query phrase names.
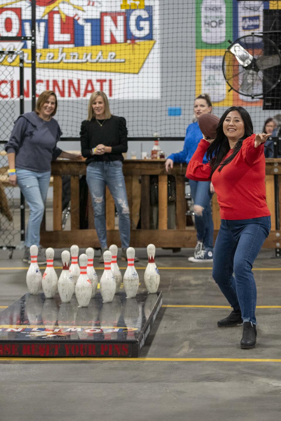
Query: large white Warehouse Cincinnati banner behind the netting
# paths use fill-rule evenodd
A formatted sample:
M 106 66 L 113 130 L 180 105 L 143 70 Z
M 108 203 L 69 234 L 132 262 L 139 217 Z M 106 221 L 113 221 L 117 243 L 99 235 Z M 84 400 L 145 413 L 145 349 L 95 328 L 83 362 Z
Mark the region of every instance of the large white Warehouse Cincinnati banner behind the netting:
M 31 36 L 31 2 L 0 0 L 0 36 Z M 0 43 L 24 51 L 25 96 L 31 97 L 31 40 Z M 159 0 L 37 0 L 37 94 L 87 99 L 160 97 Z M 0 57 L 19 66 L 19 57 Z M 18 96 L 17 80 L 1 80 L 0 98 Z

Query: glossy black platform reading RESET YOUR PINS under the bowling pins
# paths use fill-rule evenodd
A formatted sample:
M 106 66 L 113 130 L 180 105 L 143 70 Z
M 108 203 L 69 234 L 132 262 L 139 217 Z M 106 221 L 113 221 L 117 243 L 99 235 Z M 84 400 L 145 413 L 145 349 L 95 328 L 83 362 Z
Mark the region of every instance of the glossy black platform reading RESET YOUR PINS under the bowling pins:
M 84 308 L 27 293 L 0 313 L 0 357 L 138 357 L 161 305 L 162 292 Z

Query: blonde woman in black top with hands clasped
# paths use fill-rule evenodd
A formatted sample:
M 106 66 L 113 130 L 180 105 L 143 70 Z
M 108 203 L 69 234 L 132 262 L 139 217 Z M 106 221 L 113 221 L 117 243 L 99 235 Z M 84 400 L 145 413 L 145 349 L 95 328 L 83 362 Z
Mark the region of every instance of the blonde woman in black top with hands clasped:
M 122 171 L 122 152 L 127 152 L 127 128 L 123 117 L 112 115 L 104 92 L 92 93 L 88 104 L 88 118 L 82 122 L 81 149 L 87 158 L 86 180 L 90 189 L 95 229 L 101 243 L 101 258 L 108 250 L 106 241 L 105 186 L 109 187 L 119 214 L 122 259 L 130 244 L 130 211 L 125 179 Z

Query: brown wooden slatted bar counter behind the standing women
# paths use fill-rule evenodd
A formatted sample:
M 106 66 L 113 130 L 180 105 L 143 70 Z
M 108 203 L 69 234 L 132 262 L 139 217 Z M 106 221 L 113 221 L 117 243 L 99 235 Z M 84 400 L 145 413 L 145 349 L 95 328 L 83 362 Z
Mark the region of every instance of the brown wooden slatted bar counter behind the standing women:
M 125 160 L 123 172 L 127 188 L 127 196 L 131 218 L 131 240 L 133 247 L 146 247 L 153 243 L 156 247 L 178 248 L 196 245 L 196 231 L 194 226 L 186 226 L 186 198 L 184 177 L 186 165 L 174 164 L 169 174 L 175 176 L 176 200 L 175 221 L 176 229 L 168 229 L 168 192 L 167 173 L 164 168 L 164 160 Z M 41 230 L 41 243 L 44 247 L 64 248 L 77 244 L 80 247 L 100 247 L 98 237 L 94 229 L 93 208 L 88 196 L 87 216 L 88 229 L 80 229 L 80 195 L 79 178 L 86 174 L 84 162 L 56 160 L 52 163 L 53 176 L 53 231 L 45 231 L 44 223 Z M 71 176 L 71 229 L 62 230 L 61 227 L 61 176 Z M 158 227 L 149 229 L 150 224 L 150 177 L 158 176 Z M 266 160 L 266 194 L 267 203 L 271 212 L 272 229 L 264 247 L 280 248 L 281 230 L 281 159 L 268 158 Z M 279 187 L 278 187 L 279 186 Z M 277 192 L 277 193 L 275 193 Z M 275 197 L 279 196 L 278 220 L 276 224 Z M 243 203 L 237 203 L 243 207 Z M 214 240 L 220 226 L 219 207 L 217 197 L 212 199 L 213 221 L 215 226 Z M 137 225 L 140 219 L 140 229 Z M 278 225 L 279 224 L 279 225 Z M 115 226 L 114 201 L 106 188 L 106 228 L 107 242 L 121 245 L 119 231 Z M 277 229 L 278 228 L 278 229 Z

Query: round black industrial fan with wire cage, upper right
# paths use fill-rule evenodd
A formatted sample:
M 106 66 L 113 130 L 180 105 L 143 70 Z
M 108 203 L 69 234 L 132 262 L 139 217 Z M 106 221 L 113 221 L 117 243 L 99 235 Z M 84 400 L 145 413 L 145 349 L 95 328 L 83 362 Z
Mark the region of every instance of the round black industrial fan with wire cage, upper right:
M 234 41 L 223 57 L 228 85 L 252 98 L 271 91 L 281 80 L 281 54 L 265 35 L 245 35 Z

